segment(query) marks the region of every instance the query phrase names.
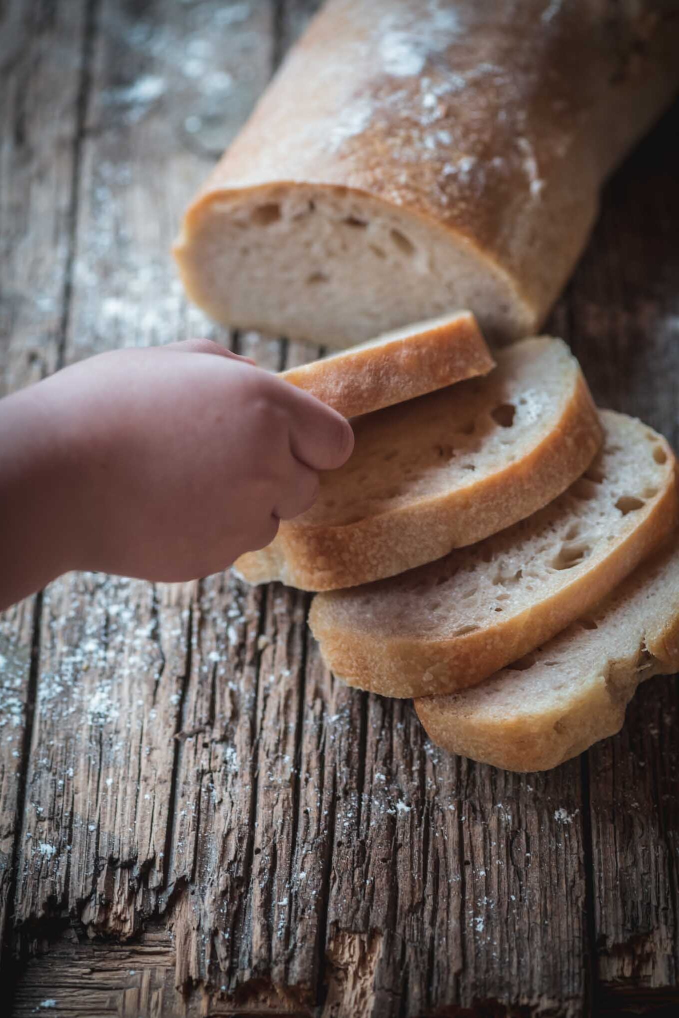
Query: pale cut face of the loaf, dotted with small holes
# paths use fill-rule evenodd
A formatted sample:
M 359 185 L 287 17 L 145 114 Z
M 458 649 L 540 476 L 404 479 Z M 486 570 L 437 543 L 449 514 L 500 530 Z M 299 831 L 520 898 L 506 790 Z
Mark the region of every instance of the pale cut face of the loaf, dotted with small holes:
M 459 307 L 492 340 L 537 324 L 468 240 L 346 187 L 209 192 L 174 254 L 189 297 L 222 324 L 336 348 Z

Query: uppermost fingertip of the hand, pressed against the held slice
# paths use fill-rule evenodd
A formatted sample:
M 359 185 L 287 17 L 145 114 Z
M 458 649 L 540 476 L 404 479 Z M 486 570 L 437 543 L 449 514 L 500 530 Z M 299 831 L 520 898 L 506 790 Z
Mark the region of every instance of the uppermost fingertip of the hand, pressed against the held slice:
M 353 451 L 351 426 L 340 413 L 302 389 L 282 382 L 293 456 L 314 470 L 335 470 Z

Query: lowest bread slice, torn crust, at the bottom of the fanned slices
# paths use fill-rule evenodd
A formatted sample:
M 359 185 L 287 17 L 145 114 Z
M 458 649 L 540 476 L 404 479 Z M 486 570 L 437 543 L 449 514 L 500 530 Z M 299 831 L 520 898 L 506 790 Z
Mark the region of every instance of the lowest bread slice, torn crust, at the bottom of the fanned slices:
M 638 684 L 679 669 L 679 540 L 528 657 L 473 689 L 415 700 L 438 745 L 547 771 L 618 732 Z

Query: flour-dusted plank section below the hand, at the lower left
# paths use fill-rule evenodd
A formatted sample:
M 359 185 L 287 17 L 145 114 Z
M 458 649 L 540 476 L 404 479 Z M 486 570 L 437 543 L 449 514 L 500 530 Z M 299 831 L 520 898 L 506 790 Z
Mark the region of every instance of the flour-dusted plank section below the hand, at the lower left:
M 149 584 L 70 574 L 44 596 L 15 922 L 128 937 L 163 886 L 189 608 Z M 151 904 L 153 908 L 153 903 Z

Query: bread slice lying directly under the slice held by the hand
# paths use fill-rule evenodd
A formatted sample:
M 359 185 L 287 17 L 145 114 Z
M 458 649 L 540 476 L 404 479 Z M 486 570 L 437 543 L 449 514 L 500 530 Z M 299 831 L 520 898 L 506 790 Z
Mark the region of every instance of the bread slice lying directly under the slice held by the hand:
M 432 562 L 556 498 L 602 441 L 577 361 L 546 338 L 502 350 L 485 379 L 357 418 L 354 435 L 316 505 L 238 559 L 245 579 L 329 590 Z

